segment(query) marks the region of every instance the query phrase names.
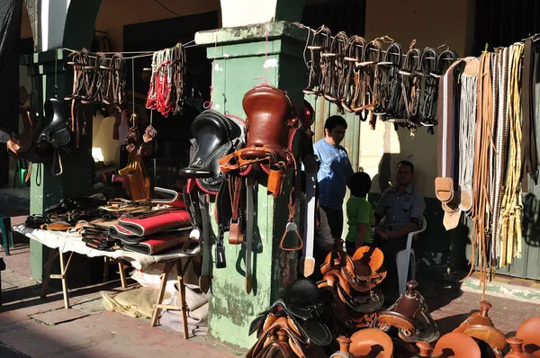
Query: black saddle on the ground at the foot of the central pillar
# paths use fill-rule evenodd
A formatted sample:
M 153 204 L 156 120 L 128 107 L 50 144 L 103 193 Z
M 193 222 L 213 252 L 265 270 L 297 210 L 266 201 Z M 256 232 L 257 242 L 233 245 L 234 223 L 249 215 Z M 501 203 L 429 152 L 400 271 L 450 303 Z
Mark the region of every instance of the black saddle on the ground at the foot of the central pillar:
M 255 332 L 259 336 L 269 317 L 287 317 L 308 344 L 329 345 L 332 334 L 320 319 L 323 309 L 317 285 L 308 279 L 298 279 L 286 289 L 284 299 L 276 300 L 251 322 L 249 336 Z

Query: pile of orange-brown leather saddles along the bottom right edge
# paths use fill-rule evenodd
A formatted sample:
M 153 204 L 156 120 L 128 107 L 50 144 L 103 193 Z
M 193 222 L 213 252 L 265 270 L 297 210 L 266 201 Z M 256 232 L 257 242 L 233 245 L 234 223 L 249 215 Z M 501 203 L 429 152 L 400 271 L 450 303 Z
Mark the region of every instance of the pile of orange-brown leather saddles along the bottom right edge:
M 378 315 L 378 325 L 358 330 L 351 336 L 338 336 L 335 340 L 339 346 L 338 351 L 330 356 L 344 358 L 540 357 L 540 335 L 538 335 L 540 317 L 528 318 L 518 327 L 515 337 L 507 338 L 493 326 L 493 322 L 488 316 L 491 304 L 485 300 L 482 300 L 479 312 L 474 312 L 453 332 L 440 338 L 438 338 L 438 332 L 433 334 L 431 333 L 434 332 L 433 330 L 425 329 L 425 327 L 431 326 L 437 330 L 437 326 L 434 326 L 433 323 L 426 325 L 417 322 L 415 326 L 414 322 L 411 321 L 411 327 L 404 328 L 404 321 L 410 321 L 410 318 L 414 317 L 404 316 L 403 312 L 398 315 L 398 310 L 403 309 L 402 304 L 400 307 L 400 302 L 410 300 L 410 297 L 405 297 L 406 295 L 419 297 L 419 293 L 414 291 L 412 287 L 414 286 L 413 282 L 409 282 L 409 284 L 408 292 L 392 306 L 392 314 L 383 311 Z M 410 312 L 424 309 L 416 304 L 413 306 Z M 397 327 L 398 335 L 395 336 L 392 331 L 383 331 L 382 324 Z M 424 333 L 419 332 L 422 329 L 424 329 Z

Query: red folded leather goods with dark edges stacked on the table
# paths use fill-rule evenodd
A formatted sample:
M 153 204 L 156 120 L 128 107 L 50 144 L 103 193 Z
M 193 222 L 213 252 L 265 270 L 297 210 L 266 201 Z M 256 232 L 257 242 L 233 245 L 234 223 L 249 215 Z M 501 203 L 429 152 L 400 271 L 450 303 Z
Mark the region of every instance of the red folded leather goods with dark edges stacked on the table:
M 109 228 L 109 236 L 124 249 L 157 255 L 185 244 L 192 229 L 185 209 L 152 210 L 134 217 L 121 217 Z

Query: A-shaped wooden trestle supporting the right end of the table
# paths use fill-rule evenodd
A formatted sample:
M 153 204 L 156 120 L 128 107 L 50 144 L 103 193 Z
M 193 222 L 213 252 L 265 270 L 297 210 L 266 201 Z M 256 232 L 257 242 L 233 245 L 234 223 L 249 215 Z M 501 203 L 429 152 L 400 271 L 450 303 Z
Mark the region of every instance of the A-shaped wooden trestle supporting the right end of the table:
M 185 303 L 184 273 L 187 271 L 187 268 L 189 267 L 189 264 L 191 264 L 191 262 L 192 262 L 192 257 L 189 256 L 184 266 L 182 265 L 181 258 L 177 258 L 174 261 L 167 261 L 165 263 L 165 268 L 163 269 L 163 273 L 161 273 L 161 285 L 159 287 L 159 293 L 157 294 L 157 303 L 154 305 L 154 314 L 152 315 L 152 321 L 151 321 L 151 326 L 156 327 L 157 319 L 159 318 L 161 309 L 181 310 L 182 323 L 184 325 L 184 339 L 189 338 L 189 334 L 187 332 L 187 312 L 186 312 L 187 304 Z M 173 268 L 174 264 L 176 265 L 176 279 L 178 280 L 178 295 L 180 298 L 180 306 L 162 304 L 163 298 L 165 296 L 166 281 L 167 281 L 169 272 Z

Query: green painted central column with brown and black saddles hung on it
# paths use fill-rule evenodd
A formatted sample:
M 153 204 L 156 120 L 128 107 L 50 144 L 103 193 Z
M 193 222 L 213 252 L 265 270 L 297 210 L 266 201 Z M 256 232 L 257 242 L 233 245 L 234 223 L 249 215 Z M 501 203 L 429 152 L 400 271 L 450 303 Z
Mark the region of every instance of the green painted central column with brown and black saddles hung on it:
M 266 79 L 268 84 L 286 91 L 301 109 L 302 89 L 307 83 L 302 58 L 306 37 L 306 30 L 289 22 L 197 32 L 195 42 L 207 46 L 207 57 L 214 59 L 212 108 L 246 118 L 242 108 L 244 94 Z M 293 175 L 289 175 L 284 193 L 275 200 L 266 195 L 265 186 L 258 185 L 253 291 L 249 294 L 245 288 L 245 246 L 228 245 L 225 237 L 227 267 L 213 268 L 209 318 L 212 338 L 241 348 L 253 345 L 257 337 L 247 336 L 251 320 L 297 278 L 298 252 L 285 253 L 279 246 L 288 217 L 292 181 Z M 296 222 L 301 217 L 297 212 Z

